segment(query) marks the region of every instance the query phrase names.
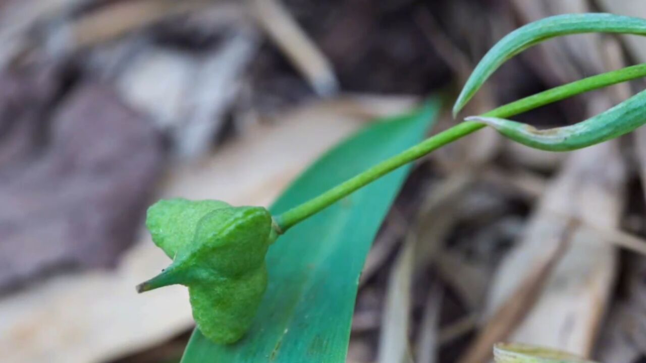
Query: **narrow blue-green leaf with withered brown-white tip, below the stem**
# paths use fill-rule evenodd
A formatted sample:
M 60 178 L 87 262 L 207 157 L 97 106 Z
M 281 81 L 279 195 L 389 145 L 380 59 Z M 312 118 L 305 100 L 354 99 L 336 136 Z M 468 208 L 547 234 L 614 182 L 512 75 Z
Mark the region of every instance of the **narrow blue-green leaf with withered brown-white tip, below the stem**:
M 605 112 L 566 127 L 537 130 L 508 119 L 472 116 L 467 121 L 486 123 L 506 137 L 535 149 L 570 151 L 627 134 L 646 123 L 646 90 Z

